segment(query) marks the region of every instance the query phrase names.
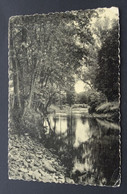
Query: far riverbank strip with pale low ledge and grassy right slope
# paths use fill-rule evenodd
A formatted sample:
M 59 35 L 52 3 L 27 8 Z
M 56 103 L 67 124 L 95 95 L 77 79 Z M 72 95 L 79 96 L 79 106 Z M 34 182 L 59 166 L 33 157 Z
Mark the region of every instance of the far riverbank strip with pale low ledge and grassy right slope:
M 82 105 L 83 106 L 83 105 Z M 100 119 L 106 119 L 109 121 L 115 121 L 118 122 L 119 120 L 119 103 L 118 102 L 105 102 L 100 105 L 98 105 L 95 108 L 94 112 L 89 113 L 89 105 L 86 105 L 86 107 L 81 107 L 77 105 L 73 105 L 72 107 L 69 106 L 63 106 L 61 109 L 58 106 L 52 105 L 49 108 L 50 113 L 55 114 L 83 114 L 83 117 L 86 118 L 100 118 Z

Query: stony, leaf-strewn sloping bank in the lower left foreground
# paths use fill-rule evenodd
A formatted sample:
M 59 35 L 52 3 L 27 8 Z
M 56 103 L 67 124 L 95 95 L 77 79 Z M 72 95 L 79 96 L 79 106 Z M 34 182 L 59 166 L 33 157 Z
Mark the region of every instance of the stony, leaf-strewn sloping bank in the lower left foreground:
M 58 157 L 28 134 L 9 135 L 9 179 L 65 182 L 65 167 Z

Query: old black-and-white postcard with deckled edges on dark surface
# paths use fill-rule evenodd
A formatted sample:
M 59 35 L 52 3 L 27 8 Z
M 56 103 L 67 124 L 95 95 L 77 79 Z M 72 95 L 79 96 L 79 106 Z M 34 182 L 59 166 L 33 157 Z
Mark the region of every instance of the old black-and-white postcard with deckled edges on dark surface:
M 15 15 L 8 26 L 8 178 L 121 183 L 119 9 Z

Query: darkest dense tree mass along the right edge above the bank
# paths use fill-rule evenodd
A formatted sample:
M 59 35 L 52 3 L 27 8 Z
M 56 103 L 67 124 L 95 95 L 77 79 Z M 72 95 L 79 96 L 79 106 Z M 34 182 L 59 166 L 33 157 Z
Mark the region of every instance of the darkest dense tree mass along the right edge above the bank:
M 109 32 L 98 54 L 98 72 L 95 87 L 103 92 L 109 101 L 118 100 L 119 93 L 119 40 L 118 25 Z

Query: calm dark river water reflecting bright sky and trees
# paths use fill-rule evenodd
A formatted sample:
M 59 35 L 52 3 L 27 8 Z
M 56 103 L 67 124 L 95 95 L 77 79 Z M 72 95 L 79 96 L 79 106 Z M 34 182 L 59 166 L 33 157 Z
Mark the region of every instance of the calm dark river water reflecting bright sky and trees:
M 82 114 L 49 116 L 46 146 L 75 183 L 114 185 L 119 176 L 119 126 Z M 47 123 L 45 123 L 47 126 Z

